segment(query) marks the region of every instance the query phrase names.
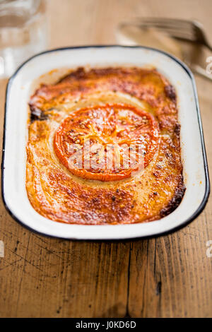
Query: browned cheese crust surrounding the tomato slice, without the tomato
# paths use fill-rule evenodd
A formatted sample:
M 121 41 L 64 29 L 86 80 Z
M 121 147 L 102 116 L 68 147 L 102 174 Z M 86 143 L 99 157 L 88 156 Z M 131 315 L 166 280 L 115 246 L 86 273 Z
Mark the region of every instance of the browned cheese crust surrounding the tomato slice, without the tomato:
M 98 181 L 71 174 L 57 158 L 54 133 L 76 109 L 127 104 L 158 123 L 158 147 L 141 174 Z M 78 68 L 30 98 L 26 189 L 37 213 L 86 225 L 142 223 L 171 213 L 184 195 L 175 88 L 155 69 Z

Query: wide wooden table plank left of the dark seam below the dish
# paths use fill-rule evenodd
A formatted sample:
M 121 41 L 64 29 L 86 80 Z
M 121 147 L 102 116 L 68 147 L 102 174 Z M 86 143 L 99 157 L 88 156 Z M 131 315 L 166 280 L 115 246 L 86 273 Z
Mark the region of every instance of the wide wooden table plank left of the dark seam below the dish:
M 1 230 L 1 316 L 125 316 L 128 243 L 49 239 L 13 223 Z

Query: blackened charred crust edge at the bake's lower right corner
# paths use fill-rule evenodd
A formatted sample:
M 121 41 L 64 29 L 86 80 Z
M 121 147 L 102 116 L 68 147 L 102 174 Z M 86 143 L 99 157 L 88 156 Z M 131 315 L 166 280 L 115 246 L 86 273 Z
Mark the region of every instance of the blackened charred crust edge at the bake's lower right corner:
M 177 208 L 177 206 L 179 206 L 179 203 L 182 201 L 182 198 L 184 196 L 185 190 L 186 188 L 184 186 L 183 177 L 182 177 L 180 183 L 175 189 L 174 197 L 172 197 L 171 201 L 167 204 L 167 206 L 160 211 L 161 218 L 165 217 L 166 215 L 169 215 L 172 211 L 175 210 L 175 208 Z

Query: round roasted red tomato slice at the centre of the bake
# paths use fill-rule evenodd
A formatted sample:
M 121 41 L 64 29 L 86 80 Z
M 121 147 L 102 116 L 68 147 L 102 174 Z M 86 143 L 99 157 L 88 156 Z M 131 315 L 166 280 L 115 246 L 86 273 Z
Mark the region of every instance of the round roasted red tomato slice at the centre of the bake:
M 131 177 L 153 159 L 158 123 L 152 114 L 125 104 L 71 112 L 54 135 L 54 151 L 68 170 L 84 179 Z

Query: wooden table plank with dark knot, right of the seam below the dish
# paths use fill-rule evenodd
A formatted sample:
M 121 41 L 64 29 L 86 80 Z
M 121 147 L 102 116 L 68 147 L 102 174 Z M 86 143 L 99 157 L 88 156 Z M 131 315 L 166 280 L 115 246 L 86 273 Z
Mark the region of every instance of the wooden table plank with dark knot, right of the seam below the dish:
M 196 77 L 209 171 L 212 172 L 211 82 Z M 194 147 L 195 148 L 195 147 Z M 129 315 L 133 317 L 211 317 L 211 196 L 203 213 L 182 230 L 134 242 L 131 251 Z

